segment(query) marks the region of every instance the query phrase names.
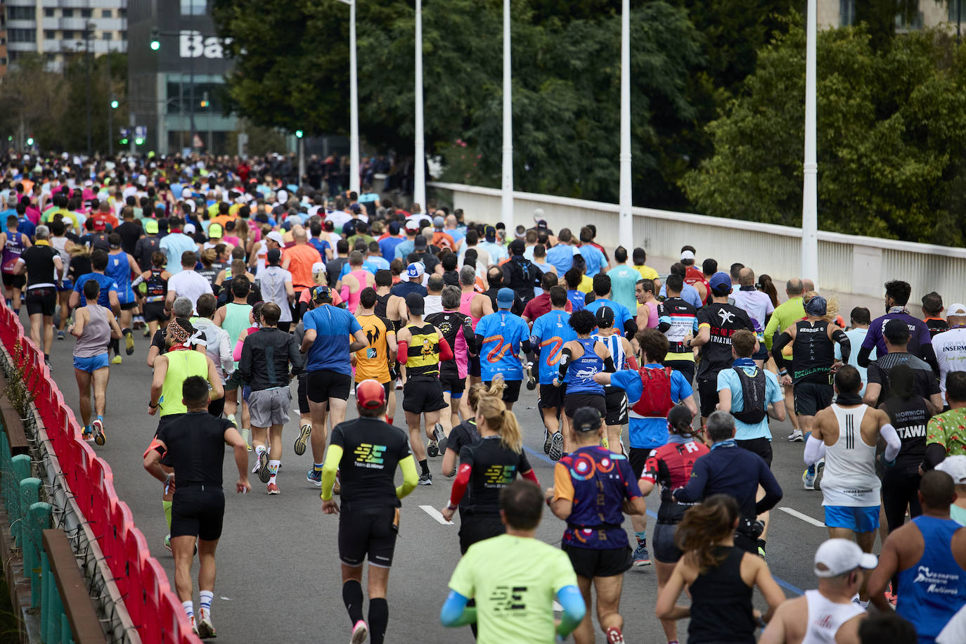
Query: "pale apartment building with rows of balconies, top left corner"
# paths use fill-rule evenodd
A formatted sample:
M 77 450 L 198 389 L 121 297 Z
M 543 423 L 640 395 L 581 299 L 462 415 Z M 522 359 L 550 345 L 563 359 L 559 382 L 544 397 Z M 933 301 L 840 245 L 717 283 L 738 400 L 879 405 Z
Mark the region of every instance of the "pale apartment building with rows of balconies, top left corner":
M 41 54 L 51 70 L 65 56 L 128 50 L 128 0 L 5 0 L 0 74 L 26 54 Z

